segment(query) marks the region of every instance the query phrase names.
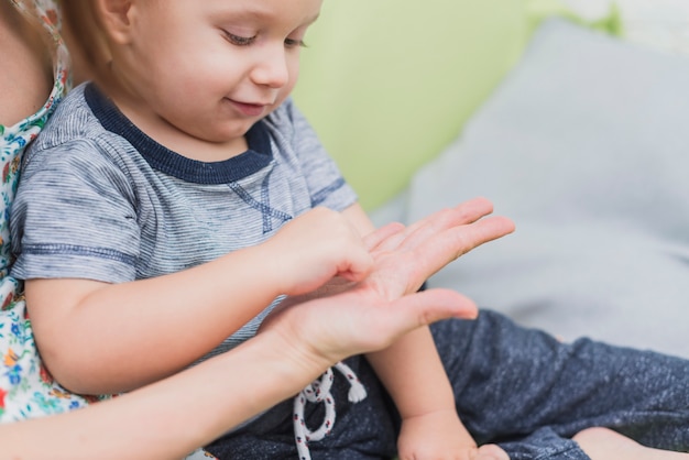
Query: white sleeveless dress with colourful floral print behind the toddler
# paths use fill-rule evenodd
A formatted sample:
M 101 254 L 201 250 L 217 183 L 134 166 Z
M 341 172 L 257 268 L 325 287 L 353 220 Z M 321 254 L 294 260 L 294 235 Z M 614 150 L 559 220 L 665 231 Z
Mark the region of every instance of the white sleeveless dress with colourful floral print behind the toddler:
M 55 83 L 47 101 L 36 113 L 11 127 L 0 124 L 0 423 L 58 414 L 92 401 L 65 391 L 47 373 L 36 351 L 21 284 L 9 276 L 12 263 L 9 216 L 22 153 L 41 132 L 68 83 L 68 55 L 58 34 L 58 14 L 53 0 L 11 1 L 32 20 L 40 21 L 53 39 Z

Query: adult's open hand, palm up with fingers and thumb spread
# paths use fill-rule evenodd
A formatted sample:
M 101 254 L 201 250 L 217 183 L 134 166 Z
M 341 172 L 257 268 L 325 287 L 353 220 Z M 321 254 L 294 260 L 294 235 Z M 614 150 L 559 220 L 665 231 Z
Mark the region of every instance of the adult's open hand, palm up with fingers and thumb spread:
M 327 366 L 382 350 L 430 322 L 473 318 L 472 300 L 449 289 L 416 293 L 442 266 L 473 248 L 513 231 L 511 220 L 486 217 L 492 204 L 477 198 L 404 228 L 390 224 L 365 238 L 374 260 L 358 283 L 329 285 L 319 296 L 288 297 L 261 331 L 282 336 L 285 347 Z

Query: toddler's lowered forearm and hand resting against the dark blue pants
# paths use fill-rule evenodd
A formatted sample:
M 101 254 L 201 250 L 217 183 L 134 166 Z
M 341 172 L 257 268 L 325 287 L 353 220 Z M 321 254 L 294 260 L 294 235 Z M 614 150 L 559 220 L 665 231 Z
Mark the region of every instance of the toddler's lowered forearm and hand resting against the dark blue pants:
M 344 215 L 368 234 L 373 223 L 358 205 Z M 411 294 L 419 286 L 405 286 Z M 383 351 L 369 353 L 402 417 L 398 450 L 406 458 L 469 458 L 477 445 L 459 419 L 455 396 L 430 330 L 419 328 Z

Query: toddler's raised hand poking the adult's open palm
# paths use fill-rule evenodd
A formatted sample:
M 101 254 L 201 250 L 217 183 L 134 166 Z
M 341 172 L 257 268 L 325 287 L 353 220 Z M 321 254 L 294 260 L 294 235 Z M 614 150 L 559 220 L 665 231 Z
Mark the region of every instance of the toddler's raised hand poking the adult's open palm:
M 275 269 L 287 295 L 309 293 L 336 276 L 361 281 L 373 267 L 373 258 L 354 227 L 327 208 L 295 218 L 264 247 L 266 264 Z

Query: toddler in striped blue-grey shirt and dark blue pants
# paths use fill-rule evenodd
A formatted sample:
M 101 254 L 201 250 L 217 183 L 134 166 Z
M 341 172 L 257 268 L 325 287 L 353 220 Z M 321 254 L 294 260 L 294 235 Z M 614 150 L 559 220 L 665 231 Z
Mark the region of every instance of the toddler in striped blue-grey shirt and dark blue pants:
M 141 387 L 249 340 L 285 296 L 370 270 L 373 226 L 289 99 L 320 3 L 89 2 L 110 61 L 28 152 L 12 213 L 12 274 L 67 388 Z M 419 287 L 397 284 L 391 298 Z M 689 448 L 689 363 L 560 343 L 490 311 L 336 370 L 207 451 L 689 458 L 632 441 Z

